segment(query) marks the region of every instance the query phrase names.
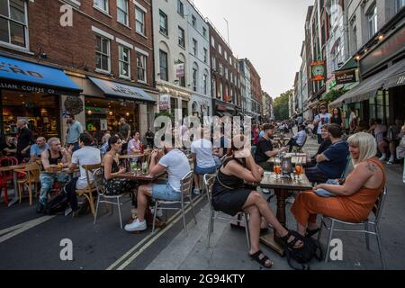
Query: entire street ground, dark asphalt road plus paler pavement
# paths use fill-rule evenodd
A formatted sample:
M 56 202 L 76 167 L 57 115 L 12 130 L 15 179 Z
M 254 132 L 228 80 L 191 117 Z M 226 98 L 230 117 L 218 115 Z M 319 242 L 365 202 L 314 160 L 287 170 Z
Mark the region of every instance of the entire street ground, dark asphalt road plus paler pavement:
M 315 139 L 307 141 L 305 150 L 311 154 L 318 145 Z M 405 184 L 402 167 L 387 166 L 388 196 L 380 225 L 383 258 L 388 269 L 405 268 Z M 13 197 L 13 192 L 9 198 Z M 266 195 L 265 195 L 266 197 Z M 124 224 L 130 218 L 130 199 L 122 206 Z M 35 213 L 28 201 L 6 207 L 0 202 L 0 270 L 260 270 L 247 255 L 247 241 L 243 229 L 232 229 L 229 223 L 215 222 L 211 245 L 207 247 L 209 206 L 205 195 L 195 196 L 197 224 L 192 213 L 186 214 L 188 237 L 179 213 L 169 214 L 166 227 L 151 233 L 129 234 L 120 229 L 118 213 L 112 214 L 103 206 L 94 225 L 91 215 L 44 216 Z M 34 201 L 36 202 L 36 200 Z M 275 197 L 270 202 L 275 211 Z M 287 225 L 295 229 L 295 220 L 287 204 Z M 381 269 L 374 237 L 371 251 L 365 247 L 363 235 L 337 232 L 343 243 L 343 260 L 329 263 L 314 260 L 312 270 L 374 270 Z M 334 237 L 334 238 L 335 238 Z M 63 261 L 63 239 L 73 243 L 73 259 Z M 327 233 L 321 238 L 324 250 Z M 261 248 L 274 262 L 274 270 L 291 270 L 285 258 Z

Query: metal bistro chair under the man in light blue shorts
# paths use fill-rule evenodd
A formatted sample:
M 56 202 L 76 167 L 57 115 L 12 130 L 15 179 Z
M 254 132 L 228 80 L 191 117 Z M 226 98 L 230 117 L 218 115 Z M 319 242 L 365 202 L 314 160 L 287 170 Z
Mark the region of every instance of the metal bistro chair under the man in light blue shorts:
M 194 205 L 193 205 L 193 194 L 192 194 L 192 189 L 193 189 L 193 171 L 190 171 L 187 173 L 187 175 L 184 175 L 183 179 L 180 181 L 181 184 L 181 190 L 180 190 L 180 200 L 178 201 L 167 201 L 163 199 L 156 199 L 155 200 L 155 209 L 153 212 L 153 226 L 152 226 L 152 233 L 155 232 L 155 222 L 156 222 L 156 214 L 157 210 L 180 210 L 182 211 L 183 214 L 183 224 L 184 224 L 184 234 L 185 237 L 187 237 L 187 225 L 185 224 L 185 204 L 190 203 L 192 206 L 193 210 L 193 216 L 194 216 L 194 221 L 195 224 L 197 224 L 197 219 L 195 217 L 195 211 L 194 211 Z M 185 202 L 184 198 L 189 198 L 190 201 Z M 174 204 L 180 204 L 179 207 L 172 207 Z M 166 207 L 167 205 L 170 205 L 170 207 Z

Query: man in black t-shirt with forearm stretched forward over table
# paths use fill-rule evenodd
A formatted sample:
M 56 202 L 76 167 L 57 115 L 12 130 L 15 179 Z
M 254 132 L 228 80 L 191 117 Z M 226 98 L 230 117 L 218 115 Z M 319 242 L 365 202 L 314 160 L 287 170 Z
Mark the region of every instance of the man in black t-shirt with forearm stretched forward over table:
M 265 131 L 265 134 L 257 142 L 255 161 L 257 165 L 261 166 L 263 169 L 271 170 L 272 166 L 267 161 L 270 157 L 275 157 L 278 154 L 278 151 L 273 150 L 273 144 L 271 140 L 275 130 L 275 126 L 273 126 L 272 124 L 265 124 L 263 125 L 263 130 Z M 280 149 L 281 152 L 287 150 L 287 147 Z

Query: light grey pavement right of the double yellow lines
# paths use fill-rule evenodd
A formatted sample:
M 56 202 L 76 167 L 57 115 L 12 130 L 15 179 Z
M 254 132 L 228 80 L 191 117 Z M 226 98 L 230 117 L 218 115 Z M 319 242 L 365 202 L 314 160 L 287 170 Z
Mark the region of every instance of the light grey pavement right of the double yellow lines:
M 304 150 L 315 154 L 318 144 L 315 139 L 307 141 Z M 380 224 L 381 237 L 383 242 L 383 258 L 387 269 L 405 268 L 405 184 L 402 183 L 401 166 L 387 167 L 388 196 L 385 203 L 383 218 Z M 266 195 L 265 195 L 266 197 Z M 270 202 L 275 211 L 275 198 Z M 288 209 L 287 204 L 287 225 L 295 228 L 295 220 Z M 229 223 L 215 222 L 214 231 L 211 236 L 211 245 L 208 247 L 207 229 L 209 220 L 208 204 L 202 207 L 197 214 L 198 224 L 188 224 L 188 238 L 179 233 L 146 267 L 150 270 L 258 270 L 263 269 L 256 262 L 251 261 L 247 255 L 247 241 L 245 230 L 232 229 Z M 326 232 L 322 233 L 320 242 L 325 246 L 327 243 Z M 318 262 L 313 260 L 311 270 L 379 270 L 382 269 L 378 256 L 377 244 L 374 237 L 371 237 L 371 251 L 365 247 L 365 236 L 357 234 L 345 234 L 336 232 L 334 238 L 339 238 L 343 243 L 343 260 Z M 275 262 L 273 269 L 290 270 L 284 257 L 280 257 L 273 250 L 261 244 L 262 250 Z

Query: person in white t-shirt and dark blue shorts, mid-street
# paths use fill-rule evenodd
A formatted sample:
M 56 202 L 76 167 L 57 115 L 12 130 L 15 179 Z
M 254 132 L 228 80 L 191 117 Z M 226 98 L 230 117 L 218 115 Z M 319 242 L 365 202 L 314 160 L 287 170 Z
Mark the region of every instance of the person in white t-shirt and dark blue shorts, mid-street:
M 212 143 L 208 139 L 201 138 L 201 131 L 197 131 L 196 139 L 191 144 L 191 152 L 194 159 L 194 193 L 200 193 L 199 175 L 214 174 L 217 170 L 213 157 Z

